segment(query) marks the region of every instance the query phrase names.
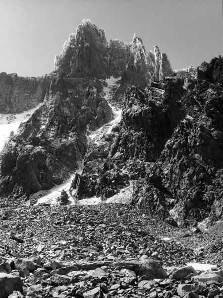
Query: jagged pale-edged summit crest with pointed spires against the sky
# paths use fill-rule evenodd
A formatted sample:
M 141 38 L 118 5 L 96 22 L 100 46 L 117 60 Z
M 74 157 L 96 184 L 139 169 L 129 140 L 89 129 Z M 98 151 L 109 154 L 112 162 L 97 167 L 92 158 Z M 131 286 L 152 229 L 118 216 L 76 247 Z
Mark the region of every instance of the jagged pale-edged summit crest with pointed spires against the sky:
M 158 47 L 156 50 L 160 53 Z M 172 73 L 167 55 L 156 58 L 156 52 L 147 52 L 136 34 L 130 44 L 119 40 L 108 42 L 105 31 L 87 19 L 77 27 L 76 33 L 69 35 L 61 54 L 56 56 L 55 72 L 88 78 L 125 75 L 129 85 L 137 83 L 145 87 L 156 63 L 157 80 Z

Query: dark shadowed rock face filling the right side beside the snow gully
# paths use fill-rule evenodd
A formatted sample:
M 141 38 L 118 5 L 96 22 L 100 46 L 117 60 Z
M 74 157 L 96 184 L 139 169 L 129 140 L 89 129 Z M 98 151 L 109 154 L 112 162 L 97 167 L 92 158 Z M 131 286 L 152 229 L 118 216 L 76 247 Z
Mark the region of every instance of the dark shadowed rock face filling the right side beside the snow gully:
M 104 164 L 93 175 L 86 160 L 76 196 L 106 199 L 137 181 L 135 203 L 172 224 L 173 208 L 183 223 L 222 219 L 222 61 L 202 64 L 198 79 L 174 74 L 164 90 L 129 88 Z

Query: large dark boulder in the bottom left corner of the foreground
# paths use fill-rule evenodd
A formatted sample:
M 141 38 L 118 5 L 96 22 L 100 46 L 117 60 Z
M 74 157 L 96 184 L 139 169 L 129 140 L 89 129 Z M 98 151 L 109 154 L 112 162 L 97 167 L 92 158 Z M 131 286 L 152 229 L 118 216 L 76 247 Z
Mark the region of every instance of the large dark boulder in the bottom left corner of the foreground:
M 7 298 L 13 291 L 23 293 L 22 280 L 11 274 L 0 273 L 0 298 Z

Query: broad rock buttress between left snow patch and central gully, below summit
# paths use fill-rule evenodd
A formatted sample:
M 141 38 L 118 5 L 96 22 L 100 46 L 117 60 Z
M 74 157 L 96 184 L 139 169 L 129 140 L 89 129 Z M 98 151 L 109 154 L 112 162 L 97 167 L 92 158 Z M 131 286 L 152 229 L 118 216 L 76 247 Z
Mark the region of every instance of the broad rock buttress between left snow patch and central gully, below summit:
M 35 193 L 60 184 L 87 150 L 87 127 L 111 120 L 101 81 L 54 75 L 44 105 L 1 152 L 0 194 Z

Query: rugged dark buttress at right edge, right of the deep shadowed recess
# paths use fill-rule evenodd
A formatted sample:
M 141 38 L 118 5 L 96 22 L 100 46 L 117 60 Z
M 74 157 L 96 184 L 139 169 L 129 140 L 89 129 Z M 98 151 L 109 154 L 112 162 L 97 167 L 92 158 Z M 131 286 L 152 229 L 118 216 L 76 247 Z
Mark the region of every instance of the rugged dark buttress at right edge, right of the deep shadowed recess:
M 195 86 L 179 97 L 186 115 L 135 194 L 140 206 L 153 209 L 160 201 L 166 210 L 174 208 L 182 224 L 222 219 L 222 63 L 220 57 L 202 64 Z

